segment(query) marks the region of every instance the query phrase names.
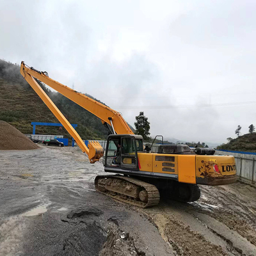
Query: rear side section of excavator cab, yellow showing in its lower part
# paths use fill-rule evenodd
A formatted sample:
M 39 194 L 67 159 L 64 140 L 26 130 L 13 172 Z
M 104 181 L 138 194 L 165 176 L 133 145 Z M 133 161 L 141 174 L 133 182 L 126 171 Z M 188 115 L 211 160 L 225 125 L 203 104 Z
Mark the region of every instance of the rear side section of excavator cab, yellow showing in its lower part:
M 131 136 L 121 139 L 121 168 L 139 170 L 136 141 Z

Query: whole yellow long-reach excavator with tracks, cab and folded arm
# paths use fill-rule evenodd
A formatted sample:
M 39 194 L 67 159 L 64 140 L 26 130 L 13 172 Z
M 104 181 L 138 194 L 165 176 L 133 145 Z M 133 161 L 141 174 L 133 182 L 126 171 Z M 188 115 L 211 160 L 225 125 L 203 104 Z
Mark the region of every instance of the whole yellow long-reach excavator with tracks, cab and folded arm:
M 233 156 L 215 156 L 211 148 L 191 150 L 188 145 L 159 145 L 157 152 L 152 152 L 152 145 L 143 145 L 142 136 L 135 135 L 117 111 L 54 81 L 47 72 L 28 67 L 24 61 L 20 74 L 88 155 L 90 163 L 104 156 L 104 171 L 117 173 L 95 177 L 97 191 L 128 204 L 152 207 L 159 203 L 160 195 L 194 202 L 200 198 L 198 184 L 214 186 L 236 182 Z M 100 118 L 109 129 L 105 153 L 97 141 L 91 141 L 86 147 L 36 79 Z

